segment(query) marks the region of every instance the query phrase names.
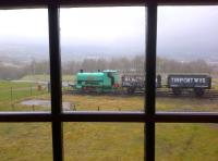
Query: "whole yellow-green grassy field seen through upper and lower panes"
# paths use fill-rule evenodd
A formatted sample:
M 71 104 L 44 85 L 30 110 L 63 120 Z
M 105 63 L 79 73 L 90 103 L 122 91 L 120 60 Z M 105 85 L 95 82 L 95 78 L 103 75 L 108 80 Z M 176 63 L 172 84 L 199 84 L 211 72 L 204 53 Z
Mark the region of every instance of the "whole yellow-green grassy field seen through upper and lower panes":
M 32 96 L 29 94 L 32 86 Z M 37 85 L 0 82 L 0 111 L 11 111 L 10 92 L 15 91 L 15 111 L 32 108 L 21 106 L 21 100 L 49 99 L 47 90 Z M 15 97 L 16 96 L 16 97 Z M 144 109 L 143 97 L 63 96 L 76 110 Z M 196 98 L 157 98 L 157 111 L 213 111 L 218 112 L 218 100 Z M 71 107 L 73 109 L 73 107 Z M 36 107 L 36 110 L 48 110 Z M 144 125 L 142 123 L 63 123 L 65 161 L 143 161 Z M 156 124 L 157 161 L 217 161 L 217 124 Z M 51 161 L 50 123 L 1 123 L 1 161 Z

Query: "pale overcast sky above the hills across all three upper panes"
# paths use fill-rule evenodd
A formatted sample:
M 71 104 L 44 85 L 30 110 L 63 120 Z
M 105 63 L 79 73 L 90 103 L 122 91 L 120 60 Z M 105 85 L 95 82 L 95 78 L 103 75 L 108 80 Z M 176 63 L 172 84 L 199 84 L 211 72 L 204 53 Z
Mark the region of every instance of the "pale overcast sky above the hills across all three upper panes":
M 122 45 L 143 51 L 145 17 L 143 7 L 61 9 L 61 41 L 108 47 Z M 0 21 L 1 44 L 48 41 L 46 9 L 1 10 Z M 158 53 L 218 53 L 217 42 L 218 7 L 158 8 Z

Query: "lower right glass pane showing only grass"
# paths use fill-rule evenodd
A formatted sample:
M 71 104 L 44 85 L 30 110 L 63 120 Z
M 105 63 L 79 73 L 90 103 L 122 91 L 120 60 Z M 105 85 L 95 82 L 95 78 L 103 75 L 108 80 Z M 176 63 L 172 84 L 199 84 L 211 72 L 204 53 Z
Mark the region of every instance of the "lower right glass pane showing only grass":
M 156 124 L 156 160 L 218 160 L 217 124 Z

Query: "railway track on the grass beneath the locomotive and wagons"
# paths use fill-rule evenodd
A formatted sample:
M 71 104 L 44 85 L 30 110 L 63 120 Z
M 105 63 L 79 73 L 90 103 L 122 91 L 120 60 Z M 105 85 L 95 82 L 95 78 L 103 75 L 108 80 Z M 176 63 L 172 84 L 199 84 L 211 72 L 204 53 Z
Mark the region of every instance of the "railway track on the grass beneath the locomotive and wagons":
M 76 90 L 64 90 L 62 91 L 63 95 L 93 95 L 93 96 L 120 96 L 120 97 L 132 97 L 132 96 L 144 96 L 143 91 L 136 91 L 134 95 L 129 95 L 123 91 L 116 91 L 116 92 L 78 92 Z M 156 91 L 156 97 L 170 97 L 170 98 L 198 98 L 198 99 L 217 99 L 218 98 L 218 90 L 206 90 L 204 96 L 197 97 L 192 90 L 183 91 L 180 96 L 175 96 L 171 90 L 169 89 L 158 89 Z

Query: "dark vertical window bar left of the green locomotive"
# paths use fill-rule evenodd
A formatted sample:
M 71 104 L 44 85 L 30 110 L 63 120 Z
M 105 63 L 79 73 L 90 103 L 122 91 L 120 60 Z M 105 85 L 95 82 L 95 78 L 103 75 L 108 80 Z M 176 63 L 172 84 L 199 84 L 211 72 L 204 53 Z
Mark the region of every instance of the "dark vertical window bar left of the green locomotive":
M 50 77 L 51 77 L 51 115 L 52 115 L 52 149 L 53 161 L 63 160 L 63 135 L 61 107 L 61 57 L 59 40 L 59 7 L 48 5 L 49 17 L 49 52 L 50 52 Z

